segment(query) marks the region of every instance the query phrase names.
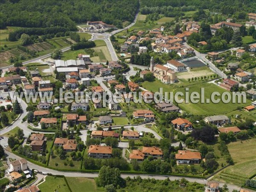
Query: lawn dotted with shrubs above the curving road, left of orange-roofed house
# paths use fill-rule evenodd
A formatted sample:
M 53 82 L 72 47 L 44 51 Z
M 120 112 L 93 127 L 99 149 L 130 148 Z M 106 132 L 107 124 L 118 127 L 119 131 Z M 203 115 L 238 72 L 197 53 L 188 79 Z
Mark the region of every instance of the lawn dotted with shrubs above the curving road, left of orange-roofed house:
M 52 148 L 52 150 L 54 150 L 54 148 Z M 49 160 L 49 167 L 53 167 L 53 168 L 57 168 L 57 169 L 76 169 L 79 170 L 80 166 L 81 166 L 81 161 L 80 160 L 72 160 L 72 157 L 70 157 L 71 152 L 67 152 L 66 153 L 66 159 L 60 159 L 60 157 L 58 156 L 56 150 L 53 151 L 54 152 L 54 158 L 50 157 Z M 73 162 L 73 166 L 69 165 L 69 162 L 72 160 Z M 64 165 L 64 163 L 67 163 L 67 166 Z M 58 163 L 58 165 L 56 166 L 55 163 Z

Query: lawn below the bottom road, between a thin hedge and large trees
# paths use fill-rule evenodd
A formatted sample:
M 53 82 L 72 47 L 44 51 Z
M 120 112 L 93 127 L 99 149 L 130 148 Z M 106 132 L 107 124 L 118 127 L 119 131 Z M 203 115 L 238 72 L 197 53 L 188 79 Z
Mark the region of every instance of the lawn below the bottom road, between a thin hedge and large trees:
M 67 183 L 69 184 L 73 192 L 104 192 L 104 189 L 99 189 L 96 186 L 94 179 L 86 177 L 66 177 Z

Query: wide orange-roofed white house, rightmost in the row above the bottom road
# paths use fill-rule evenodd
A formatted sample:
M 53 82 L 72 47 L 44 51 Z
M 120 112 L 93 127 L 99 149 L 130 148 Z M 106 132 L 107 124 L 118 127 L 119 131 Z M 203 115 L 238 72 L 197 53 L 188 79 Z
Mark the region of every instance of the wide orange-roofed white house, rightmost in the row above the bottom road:
M 202 158 L 200 152 L 178 150 L 175 159 L 177 164 L 199 164 Z

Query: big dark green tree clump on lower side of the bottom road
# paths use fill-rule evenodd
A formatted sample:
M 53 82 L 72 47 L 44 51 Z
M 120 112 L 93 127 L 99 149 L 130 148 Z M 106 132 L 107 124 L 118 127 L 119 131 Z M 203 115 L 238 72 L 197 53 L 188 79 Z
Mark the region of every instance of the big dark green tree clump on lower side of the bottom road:
M 102 166 L 99 170 L 99 185 L 105 187 L 113 184 L 114 187 L 123 186 L 123 179 L 117 168 Z

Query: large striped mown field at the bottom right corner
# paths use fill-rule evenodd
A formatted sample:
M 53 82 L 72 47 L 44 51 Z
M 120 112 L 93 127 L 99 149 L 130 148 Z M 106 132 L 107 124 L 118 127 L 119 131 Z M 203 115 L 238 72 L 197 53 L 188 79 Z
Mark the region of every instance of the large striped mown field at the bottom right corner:
M 215 180 L 240 185 L 256 172 L 256 138 L 227 145 L 235 162 L 214 176 Z

